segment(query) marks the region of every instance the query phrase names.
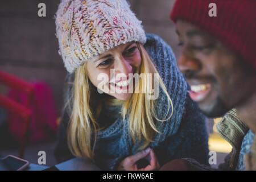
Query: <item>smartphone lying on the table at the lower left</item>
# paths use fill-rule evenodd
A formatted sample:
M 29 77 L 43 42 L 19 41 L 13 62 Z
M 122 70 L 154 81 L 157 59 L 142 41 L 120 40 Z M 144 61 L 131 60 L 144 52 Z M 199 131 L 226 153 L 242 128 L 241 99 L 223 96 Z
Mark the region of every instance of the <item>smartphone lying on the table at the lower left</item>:
M 7 155 L 5 158 L 0 159 L 0 171 L 22 171 L 29 164 L 27 160 L 17 158 L 13 155 Z

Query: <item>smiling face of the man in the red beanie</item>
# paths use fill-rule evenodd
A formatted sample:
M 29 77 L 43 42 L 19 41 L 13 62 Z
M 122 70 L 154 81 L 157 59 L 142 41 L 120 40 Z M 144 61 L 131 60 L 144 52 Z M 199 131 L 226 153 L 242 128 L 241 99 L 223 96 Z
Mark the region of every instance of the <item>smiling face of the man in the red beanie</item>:
M 178 20 L 178 59 L 189 95 L 209 117 L 220 117 L 255 92 L 255 73 L 237 53 L 191 23 Z

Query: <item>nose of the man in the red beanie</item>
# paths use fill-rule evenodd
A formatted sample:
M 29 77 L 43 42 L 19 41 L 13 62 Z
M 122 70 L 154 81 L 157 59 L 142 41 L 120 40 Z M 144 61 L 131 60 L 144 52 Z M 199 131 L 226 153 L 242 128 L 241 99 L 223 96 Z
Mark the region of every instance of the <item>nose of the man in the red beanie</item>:
M 187 78 L 191 78 L 201 68 L 199 61 L 184 54 L 179 57 L 177 64 L 181 73 Z

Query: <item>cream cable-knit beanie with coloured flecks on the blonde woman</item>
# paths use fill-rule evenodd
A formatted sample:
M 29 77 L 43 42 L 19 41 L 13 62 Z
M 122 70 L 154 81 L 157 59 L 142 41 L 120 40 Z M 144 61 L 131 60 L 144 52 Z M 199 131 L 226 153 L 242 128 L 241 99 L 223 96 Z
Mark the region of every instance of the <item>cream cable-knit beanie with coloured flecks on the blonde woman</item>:
M 120 44 L 146 42 L 126 0 L 63 0 L 55 18 L 59 53 L 69 73 Z

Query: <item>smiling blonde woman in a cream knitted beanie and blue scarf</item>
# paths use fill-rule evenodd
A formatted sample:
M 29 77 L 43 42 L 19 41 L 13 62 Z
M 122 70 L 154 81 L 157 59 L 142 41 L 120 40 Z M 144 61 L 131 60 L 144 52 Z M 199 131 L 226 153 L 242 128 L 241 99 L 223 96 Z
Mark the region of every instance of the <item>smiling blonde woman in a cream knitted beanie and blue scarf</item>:
M 144 33 L 125 0 L 61 1 L 56 32 L 69 72 L 59 162 L 77 156 L 108 170 L 207 163 L 204 117 L 171 48 Z

